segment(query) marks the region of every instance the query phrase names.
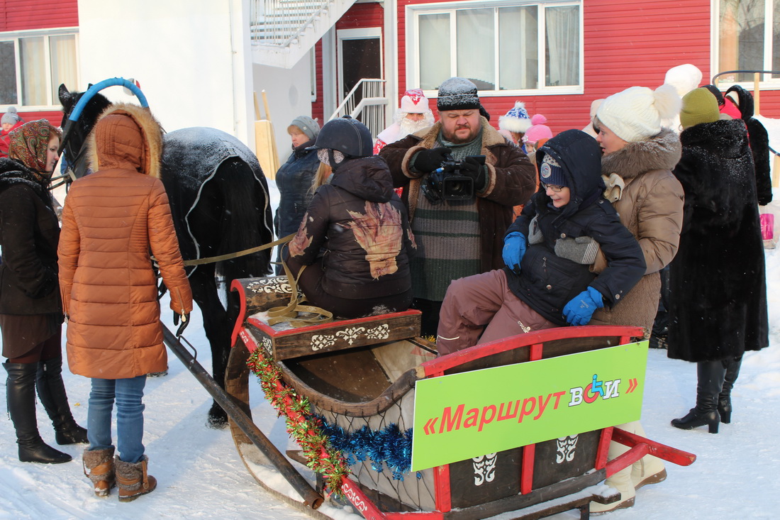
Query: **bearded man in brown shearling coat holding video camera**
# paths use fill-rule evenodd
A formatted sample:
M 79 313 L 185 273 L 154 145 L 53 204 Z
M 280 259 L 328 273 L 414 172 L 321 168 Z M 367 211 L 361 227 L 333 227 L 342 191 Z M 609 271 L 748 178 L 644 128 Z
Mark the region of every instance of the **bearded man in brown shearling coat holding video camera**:
M 440 120 L 430 130 L 388 144 L 379 153 L 394 186 L 404 188 L 402 200 L 417 240 L 417 255 L 410 262 L 412 306 L 423 312 L 424 336 L 436 335 L 441 301 L 452 280 L 504 266 L 512 206 L 523 204 L 536 190 L 536 169 L 527 155 L 480 116 L 475 84 L 460 77 L 444 81 L 436 105 Z M 434 172 L 470 177 L 473 196 L 442 201 L 436 197 L 441 184 L 428 182 Z

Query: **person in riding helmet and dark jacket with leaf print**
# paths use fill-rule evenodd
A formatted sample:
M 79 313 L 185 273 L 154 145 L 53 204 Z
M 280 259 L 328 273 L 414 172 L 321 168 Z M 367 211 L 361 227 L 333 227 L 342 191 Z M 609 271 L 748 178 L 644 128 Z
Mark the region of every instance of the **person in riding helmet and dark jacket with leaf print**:
M 371 132 L 356 119 L 329 121 L 314 148 L 333 169 L 319 187 L 287 262 L 307 301 L 339 318 L 399 312 L 412 302 L 409 254 L 416 246 L 406 207 Z

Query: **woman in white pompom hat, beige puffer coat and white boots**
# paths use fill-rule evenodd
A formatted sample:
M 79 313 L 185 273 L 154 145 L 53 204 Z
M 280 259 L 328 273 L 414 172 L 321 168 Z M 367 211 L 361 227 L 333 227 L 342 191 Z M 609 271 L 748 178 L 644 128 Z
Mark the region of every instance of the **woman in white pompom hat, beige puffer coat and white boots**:
M 598 107 L 594 119 L 596 140 L 601 144 L 601 173 L 607 185 L 607 198 L 620 215 L 620 221 L 639 240 L 647 271 L 625 300 L 612 311 L 600 309 L 590 324 L 644 327 L 650 337 L 658 310 L 661 269 L 672 262 L 683 225 L 683 187 L 672 175 L 682 147 L 675 132 L 661 126 L 665 119 L 679 114 L 681 101 L 672 85 L 655 90 L 630 87 L 612 94 Z M 598 255 L 597 272 L 604 262 Z M 619 426 L 644 436 L 639 421 Z M 613 442 L 608 457 L 613 459 L 628 447 Z M 591 502 L 591 512 L 612 511 L 633 505 L 636 488 L 666 478 L 663 463 L 651 455 L 615 473 L 607 484 L 619 490 L 621 499 L 613 504 Z

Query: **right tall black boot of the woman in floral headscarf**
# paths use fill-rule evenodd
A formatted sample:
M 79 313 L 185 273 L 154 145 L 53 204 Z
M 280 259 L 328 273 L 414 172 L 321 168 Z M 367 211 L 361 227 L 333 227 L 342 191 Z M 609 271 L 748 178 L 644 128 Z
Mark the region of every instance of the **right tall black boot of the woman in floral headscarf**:
M 86 443 L 87 429 L 73 420 L 68 404 L 68 394 L 62 381 L 62 357 L 47 359 L 38 363 L 35 386 L 38 397 L 54 426 L 58 444 Z

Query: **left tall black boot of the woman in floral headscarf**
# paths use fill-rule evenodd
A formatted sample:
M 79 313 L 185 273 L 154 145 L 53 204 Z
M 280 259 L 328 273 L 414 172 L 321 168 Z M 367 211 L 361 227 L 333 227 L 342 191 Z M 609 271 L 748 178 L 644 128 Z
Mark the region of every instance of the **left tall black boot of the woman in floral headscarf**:
M 35 417 L 35 373 L 37 363 L 3 363 L 8 379 L 5 396 L 8 412 L 16 429 L 16 443 L 19 444 L 19 460 L 60 464 L 72 460 L 71 456 L 44 443 L 38 434 Z

